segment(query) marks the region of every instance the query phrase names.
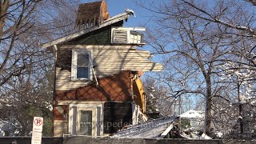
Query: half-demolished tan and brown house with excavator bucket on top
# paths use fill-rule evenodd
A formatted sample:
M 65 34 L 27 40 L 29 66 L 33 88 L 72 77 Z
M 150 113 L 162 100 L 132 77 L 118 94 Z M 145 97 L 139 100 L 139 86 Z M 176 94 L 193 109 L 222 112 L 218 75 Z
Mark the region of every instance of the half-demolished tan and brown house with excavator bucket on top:
M 124 27 L 132 10 L 109 16 L 106 2 L 79 6 L 78 32 L 42 45 L 55 55 L 53 135 L 103 136 L 146 121 L 139 78 L 162 65 L 148 60 L 142 27 Z

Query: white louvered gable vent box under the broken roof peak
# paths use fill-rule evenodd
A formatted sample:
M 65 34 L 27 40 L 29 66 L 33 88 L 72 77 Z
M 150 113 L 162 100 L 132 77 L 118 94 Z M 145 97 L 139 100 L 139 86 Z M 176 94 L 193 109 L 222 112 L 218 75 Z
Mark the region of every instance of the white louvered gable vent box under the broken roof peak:
M 144 31 L 142 27 L 112 27 L 111 43 L 118 44 L 145 44 L 143 34 L 137 31 Z

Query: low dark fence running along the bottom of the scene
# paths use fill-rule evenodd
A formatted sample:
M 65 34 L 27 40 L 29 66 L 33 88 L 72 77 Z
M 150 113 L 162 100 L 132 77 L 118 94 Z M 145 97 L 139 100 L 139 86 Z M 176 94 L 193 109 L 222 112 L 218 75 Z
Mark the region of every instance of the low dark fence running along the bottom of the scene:
M 30 144 L 31 137 L 2 137 L 0 144 Z M 256 141 L 242 140 L 189 140 L 189 139 L 143 139 L 143 138 L 92 138 L 86 136 L 74 136 L 69 138 L 42 138 L 42 144 L 253 144 Z

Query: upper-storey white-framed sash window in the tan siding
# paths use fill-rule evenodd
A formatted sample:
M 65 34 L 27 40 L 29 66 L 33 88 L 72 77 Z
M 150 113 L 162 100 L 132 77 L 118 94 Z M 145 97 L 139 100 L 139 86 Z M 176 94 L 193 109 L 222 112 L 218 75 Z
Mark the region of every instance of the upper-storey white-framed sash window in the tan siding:
M 90 50 L 72 50 L 71 79 L 91 79 L 90 66 L 92 62 Z

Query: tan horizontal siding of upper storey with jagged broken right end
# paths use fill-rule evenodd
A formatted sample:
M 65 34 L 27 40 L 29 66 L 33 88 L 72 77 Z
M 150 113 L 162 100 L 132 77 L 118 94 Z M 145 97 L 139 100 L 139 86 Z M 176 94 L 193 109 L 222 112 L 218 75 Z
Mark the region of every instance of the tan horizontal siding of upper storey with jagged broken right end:
M 160 71 L 162 65 L 148 60 L 149 51 L 136 50 L 136 46 L 61 46 L 58 49 L 56 90 L 75 90 L 88 81 L 71 81 L 72 49 L 92 50 L 97 78 L 118 74 L 122 70 Z

